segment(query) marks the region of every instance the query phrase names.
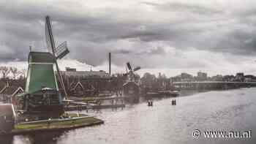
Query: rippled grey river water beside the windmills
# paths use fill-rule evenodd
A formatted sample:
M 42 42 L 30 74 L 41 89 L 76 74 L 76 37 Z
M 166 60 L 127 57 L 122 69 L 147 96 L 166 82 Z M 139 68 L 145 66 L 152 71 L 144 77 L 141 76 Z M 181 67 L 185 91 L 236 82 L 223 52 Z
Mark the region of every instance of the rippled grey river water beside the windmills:
M 186 93 L 154 99 L 153 107 L 141 102 L 124 110 L 89 111 L 105 124 L 61 133 L 1 137 L 1 144 L 256 143 L 255 95 L 256 88 Z M 176 99 L 176 106 L 171 105 L 172 99 Z M 201 134 L 197 139 L 192 137 L 195 129 Z M 203 132 L 211 130 L 251 131 L 252 136 L 205 138 Z

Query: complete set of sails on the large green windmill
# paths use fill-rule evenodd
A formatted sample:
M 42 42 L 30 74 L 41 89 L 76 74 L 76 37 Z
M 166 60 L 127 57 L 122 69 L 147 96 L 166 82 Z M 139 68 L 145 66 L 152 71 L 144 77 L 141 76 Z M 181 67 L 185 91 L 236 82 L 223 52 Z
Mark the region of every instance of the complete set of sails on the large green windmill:
M 54 58 L 56 59 L 56 68 L 57 68 L 57 72 L 58 72 L 58 75 L 59 75 L 59 81 L 61 83 L 62 88 L 64 89 L 64 94 L 65 94 L 65 97 L 67 99 L 67 91 L 66 91 L 66 88 L 64 86 L 64 81 L 63 81 L 63 78 L 61 76 L 61 73 L 59 71 L 59 66 L 58 66 L 57 60 L 66 56 L 67 53 L 69 53 L 69 50 L 67 48 L 67 42 L 66 41 L 62 42 L 61 45 L 59 45 L 57 48 L 55 47 L 55 42 L 54 42 L 54 39 L 53 39 L 53 31 L 52 31 L 49 16 L 45 17 L 45 39 L 46 39 L 46 45 L 47 45 L 47 48 L 48 48 L 48 52 L 52 53 Z

